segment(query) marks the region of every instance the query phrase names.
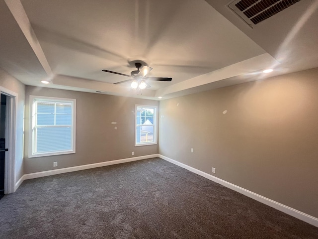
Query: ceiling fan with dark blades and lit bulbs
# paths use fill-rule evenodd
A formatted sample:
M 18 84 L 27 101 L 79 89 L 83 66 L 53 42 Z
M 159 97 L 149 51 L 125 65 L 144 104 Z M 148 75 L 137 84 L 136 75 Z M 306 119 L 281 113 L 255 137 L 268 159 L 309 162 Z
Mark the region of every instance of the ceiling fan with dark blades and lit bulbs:
M 114 72 L 114 71 L 109 71 L 109 70 L 102 70 L 102 71 L 132 78 L 132 79 L 125 80 L 125 81 L 116 82 L 114 84 L 121 84 L 121 83 L 132 81 L 131 88 L 133 88 L 134 90 L 136 90 L 136 89 L 137 90 L 144 90 L 146 88 L 150 88 L 151 86 L 149 84 L 147 84 L 146 81 L 171 81 L 172 80 L 172 78 L 168 78 L 168 77 L 146 77 L 146 75 L 153 68 L 146 66 L 146 65 L 144 65 L 141 68 L 141 66 L 142 66 L 142 64 L 140 62 L 136 62 L 135 67 L 137 68 L 137 70 L 132 71 L 130 73 L 130 75 L 126 75 L 126 74 L 118 73 L 118 72 Z

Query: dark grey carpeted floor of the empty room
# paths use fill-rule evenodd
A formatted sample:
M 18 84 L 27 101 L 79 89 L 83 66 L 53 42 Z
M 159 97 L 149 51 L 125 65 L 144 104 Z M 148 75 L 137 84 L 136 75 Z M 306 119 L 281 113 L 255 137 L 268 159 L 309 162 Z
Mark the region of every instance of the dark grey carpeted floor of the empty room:
M 318 228 L 159 158 L 26 180 L 0 239 L 318 239 Z

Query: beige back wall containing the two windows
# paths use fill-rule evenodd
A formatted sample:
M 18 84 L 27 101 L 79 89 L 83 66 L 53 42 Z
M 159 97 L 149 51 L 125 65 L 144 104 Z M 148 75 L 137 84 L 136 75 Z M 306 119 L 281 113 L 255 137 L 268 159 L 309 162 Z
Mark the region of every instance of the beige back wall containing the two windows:
M 30 95 L 77 100 L 76 153 L 28 158 Z M 136 104 L 159 106 L 158 101 L 26 86 L 24 173 L 157 154 L 158 144 L 134 146 Z M 54 161 L 58 167 L 53 168 Z

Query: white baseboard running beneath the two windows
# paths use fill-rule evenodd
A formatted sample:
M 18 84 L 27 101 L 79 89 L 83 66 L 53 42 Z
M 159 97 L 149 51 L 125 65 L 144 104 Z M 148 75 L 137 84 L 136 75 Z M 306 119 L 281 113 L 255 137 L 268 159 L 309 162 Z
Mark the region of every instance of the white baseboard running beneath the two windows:
M 50 176 L 50 175 L 69 173 L 69 172 L 74 172 L 74 171 L 79 171 L 79 170 L 104 167 L 104 166 L 113 165 L 113 164 L 127 163 L 127 162 L 132 162 L 132 161 L 137 161 L 137 160 L 142 160 L 142 159 L 147 159 L 147 158 L 155 158 L 155 157 L 158 157 L 158 154 L 151 154 L 151 155 L 132 157 L 132 158 L 124 158 L 124 159 L 106 161 L 106 162 L 101 162 L 101 163 L 92 163 L 92 164 L 80 165 L 80 166 L 69 167 L 69 168 L 60 168 L 60 169 L 43 171 L 43 172 L 28 173 L 28 174 L 24 174 L 19 179 L 19 181 L 16 183 L 15 187 L 17 189 L 20 186 L 20 184 L 26 179 L 40 178 L 40 177 L 45 177 L 45 176 Z

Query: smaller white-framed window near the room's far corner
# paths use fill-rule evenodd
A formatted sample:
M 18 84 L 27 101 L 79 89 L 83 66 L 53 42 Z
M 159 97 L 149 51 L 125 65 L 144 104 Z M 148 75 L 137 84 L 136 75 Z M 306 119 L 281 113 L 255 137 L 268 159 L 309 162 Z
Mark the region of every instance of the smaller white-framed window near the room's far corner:
M 135 146 L 157 144 L 157 107 L 136 105 Z

